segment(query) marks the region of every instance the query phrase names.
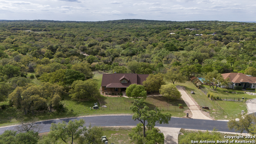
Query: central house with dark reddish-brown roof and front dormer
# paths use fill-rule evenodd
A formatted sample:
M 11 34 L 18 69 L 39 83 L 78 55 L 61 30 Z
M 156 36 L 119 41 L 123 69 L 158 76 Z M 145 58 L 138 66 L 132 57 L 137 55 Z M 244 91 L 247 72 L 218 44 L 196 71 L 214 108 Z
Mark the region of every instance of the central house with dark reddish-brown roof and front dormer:
M 101 88 L 103 92 L 120 93 L 125 91 L 130 84 L 140 84 L 146 80 L 149 74 L 103 74 Z

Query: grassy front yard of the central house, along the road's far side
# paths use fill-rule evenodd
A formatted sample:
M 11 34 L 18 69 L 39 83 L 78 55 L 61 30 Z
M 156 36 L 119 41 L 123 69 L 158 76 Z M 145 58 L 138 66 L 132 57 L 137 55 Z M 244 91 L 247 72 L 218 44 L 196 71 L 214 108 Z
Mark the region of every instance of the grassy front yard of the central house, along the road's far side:
M 100 89 L 100 84 L 102 80 L 102 74 L 95 74 L 94 80 L 98 83 L 98 88 Z M 33 81 L 40 82 L 38 80 L 33 79 Z M 99 103 L 100 101 L 100 103 Z M 68 95 L 64 96 L 63 100 L 61 101 L 64 104 L 64 112 L 35 112 L 35 115 L 31 113 L 24 115 L 23 110 L 17 110 L 14 107 L 7 107 L 4 110 L 0 111 L 1 119 L 0 119 L 0 126 L 8 126 L 12 124 L 19 124 L 21 120 L 27 121 L 31 120 L 32 118 L 36 118 L 37 120 L 50 120 L 56 118 L 68 118 L 68 117 L 77 117 L 77 116 L 88 116 L 88 115 L 104 115 L 104 114 L 133 114 L 129 107 L 132 105 L 134 98 L 125 98 L 125 97 L 107 97 L 107 96 L 100 96 L 99 100 L 94 101 L 75 101 L 72 100 Z M 98 103 L 98 105 L 106 105 L 108 108 L 104 108 L 105 110 L 90 110 L 94 106 L 94 103 Z M 144 101 L 147 106 L 150 108 L 154 108 L 157 106 L 158 108 L 164 109 L 163 112 L 170 112 L 172 116 L 182 117 L 186 114 L 182 112 L 186 110 L 186 104 L 183 100 L 177 101 L 169 101 L 163 97 L 149 97 L 146 98 Z M 8 104 L 8 100 L 5 102 L 0 102 L 0 105 Z M 179 109 L 178 104 L 182 104 L 185 108 Z M 110 107 L 110 110 L 109 109 Z M 116 106 L 118 106 L 118 110 L 116 110 Z M 126 106 L 126 107 L 124 107 Z M 168 107 L 168 108 L 167 108 Z M 176 107 L 176 108 L 174 108 Z M 121 110 L 122 109 L 122 110 Z M 124 110 L 126 109 L 126 110 Z M 178 112 L 175 112 L 178 111 Z

